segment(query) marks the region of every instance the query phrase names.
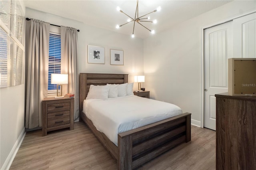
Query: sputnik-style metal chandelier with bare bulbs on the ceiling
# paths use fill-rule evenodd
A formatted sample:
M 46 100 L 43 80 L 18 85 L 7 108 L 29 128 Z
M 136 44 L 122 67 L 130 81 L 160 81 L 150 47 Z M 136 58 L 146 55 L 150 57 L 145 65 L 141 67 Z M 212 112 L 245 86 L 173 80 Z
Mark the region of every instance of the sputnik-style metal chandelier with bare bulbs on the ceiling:
M 153 12 L 156 12 L 156 11 L 160 11 L 160 10 L 161 10 L 161 7 L 159 6 L 156 10 L 154 10 L 154 11 L 148 13 L 148 14 L 145 14 L 145 15 L 139 17 L 139 6 L 138 6 L 138 3 L 139 3 L 139 1 L 137 0 L 136 10 L 135 10 L 135 17 L 134 17 L 134 18 L 128 16 L 128 15 L 127 15 L 126 13 L 124 13 L 119 7 L 116 8 L 118 11 L 120 11 L 121 13 L 124 13 L 126 16 L 129 17 L 129 19 L 127 20 L 127 22 L 126 22 L 125 24 L 128 24 L 128 23 L 130 23 L 130 22 L 133 22 L 133 23 L 134 23 L 134 24 L 133 24 L 133 30 L 132 30 L 132 38 L 134 38 L 134 26 L 135 26 L 135 23 L 140 24 L 140 25 L 143 26 L 144 28 L 146 28 L 146 27 L 145 27 L 144 25 L 142 25 L 141 22 L 152 22 L 152 23 L 156 24 L 157 21 L 156 21 L 156 20 L 149 21 L 149 20 L 150 20 L 150 16 L 147 16 L 147 15 L 148 15 L 148 14 L 151 14 L 151 13 L 153 13 Z M 146 17 L 146 16 L 147 16 L 147 17 Z M 144 18 L 143 18 L 143 17 L 144 17 Z M 124 26 L 125 24 L 116 25 L 116 28 L 120 28 L 121 26 Z M 148 31 L 150 31 L 152 34 L 155 33 L 154 30 L 150 30 L 150 29 L 148 29 L 148 28 L 146 28 L 146 29 L 147 29 Z

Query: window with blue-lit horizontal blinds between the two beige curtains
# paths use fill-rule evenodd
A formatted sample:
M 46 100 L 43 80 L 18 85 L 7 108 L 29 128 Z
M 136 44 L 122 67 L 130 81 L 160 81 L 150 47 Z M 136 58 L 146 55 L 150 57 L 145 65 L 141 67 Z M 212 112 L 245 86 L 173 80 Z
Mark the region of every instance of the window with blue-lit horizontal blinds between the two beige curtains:
M 51 84 L 51 74 L 61 73 L 61 47 L 60 34 L 50 32 L 49 40 L 49 66 L 48 66 L 48 95 L 55 95 L 57 85 Z

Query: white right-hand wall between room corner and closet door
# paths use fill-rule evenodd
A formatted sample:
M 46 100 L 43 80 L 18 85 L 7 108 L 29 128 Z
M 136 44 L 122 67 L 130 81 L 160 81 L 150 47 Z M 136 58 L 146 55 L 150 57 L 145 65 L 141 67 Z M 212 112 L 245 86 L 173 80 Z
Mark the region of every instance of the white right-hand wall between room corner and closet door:
M 256 1 L 233 1 L 144 40 L 145 87 L 150 96 L 180 106 L 200 125 L 201 29 L 255 9 Z

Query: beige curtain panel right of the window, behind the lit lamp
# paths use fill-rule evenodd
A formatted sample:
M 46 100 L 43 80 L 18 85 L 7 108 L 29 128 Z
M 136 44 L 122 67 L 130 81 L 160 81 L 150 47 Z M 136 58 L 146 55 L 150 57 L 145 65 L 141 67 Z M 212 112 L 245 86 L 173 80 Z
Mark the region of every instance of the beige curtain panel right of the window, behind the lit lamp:
M 61 73 L 68 74 L 68 93 L 74 94 L 74 120 L 79 117 L 78 87 L 76 81 L 76 56 L 77 56 L 77 30 L 70 27 L 60 27 L 61 34 Z

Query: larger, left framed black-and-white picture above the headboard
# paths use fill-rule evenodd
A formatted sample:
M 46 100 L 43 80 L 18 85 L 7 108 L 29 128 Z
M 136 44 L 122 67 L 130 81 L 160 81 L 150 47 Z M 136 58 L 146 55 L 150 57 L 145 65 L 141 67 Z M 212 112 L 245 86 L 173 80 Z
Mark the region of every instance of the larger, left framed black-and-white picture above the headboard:
M 105 64 L 105 49 L 88 45 L 88 63 Z

